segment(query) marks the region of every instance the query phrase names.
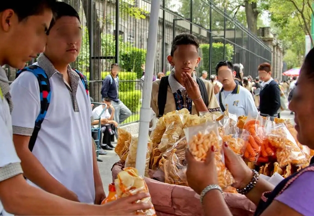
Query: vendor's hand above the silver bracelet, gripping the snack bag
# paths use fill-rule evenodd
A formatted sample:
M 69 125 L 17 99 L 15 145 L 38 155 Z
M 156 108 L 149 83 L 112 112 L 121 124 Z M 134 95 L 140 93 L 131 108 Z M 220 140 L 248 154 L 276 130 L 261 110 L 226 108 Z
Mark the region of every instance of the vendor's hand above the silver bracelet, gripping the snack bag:
M 214 148 L 207 152 L 205 161 L 197 161 L 186 149 L 186 178 L 188 185 L 198 194 L 209 184 L 217 184 L 217 167 L 214 159 Z

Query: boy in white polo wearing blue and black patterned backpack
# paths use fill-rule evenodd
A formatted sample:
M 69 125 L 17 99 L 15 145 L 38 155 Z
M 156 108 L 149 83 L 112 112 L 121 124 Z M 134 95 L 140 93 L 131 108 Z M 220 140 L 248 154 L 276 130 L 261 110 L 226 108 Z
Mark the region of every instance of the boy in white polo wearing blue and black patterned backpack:
M 29 184 L 99 204 L 105 194 L 91 142 L 90 99 L 83 76 L 69 65 L 81 47 L 75 9 L 57 2 L 48 33 L 45 51 L 11 84 L 13 142 Z

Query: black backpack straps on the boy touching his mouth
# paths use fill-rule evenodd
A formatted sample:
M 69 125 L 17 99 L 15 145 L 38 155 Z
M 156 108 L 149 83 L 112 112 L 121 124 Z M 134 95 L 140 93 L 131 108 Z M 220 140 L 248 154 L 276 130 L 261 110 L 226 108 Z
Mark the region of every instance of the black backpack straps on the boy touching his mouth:
M 158 89 L 158 117 L 162 117 L 164 113 L 164 107 L 167 99 L 167 90 L 169 85 L 169 76 L 163 76 L 160 79 L 159 83 L 159 89 Z M 198 77 L 196 77 L 196 82 L 199 86 L 200 95 L 205 103 L 206 106 L 208 106 L 208 94 L 206 91 L 205 83 Z

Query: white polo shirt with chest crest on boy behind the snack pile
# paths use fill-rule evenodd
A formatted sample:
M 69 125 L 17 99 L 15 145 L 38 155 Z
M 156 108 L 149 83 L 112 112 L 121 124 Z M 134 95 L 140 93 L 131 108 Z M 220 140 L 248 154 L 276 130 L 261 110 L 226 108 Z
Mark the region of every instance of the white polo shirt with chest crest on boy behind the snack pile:
M 236 84 L 232 91 L 227 92 L 221 88 L 219 93 L 221 93 L 221 100 L 224 108 L 226 108 L 225 104 L 228 104 L 228 111 L 231 114 L 235 114 L 236 116 L 257 115 L 257 108 L 253 96 L 245 87 Z M 215 96 L 220 104 L 219 93 L 215 94 Z

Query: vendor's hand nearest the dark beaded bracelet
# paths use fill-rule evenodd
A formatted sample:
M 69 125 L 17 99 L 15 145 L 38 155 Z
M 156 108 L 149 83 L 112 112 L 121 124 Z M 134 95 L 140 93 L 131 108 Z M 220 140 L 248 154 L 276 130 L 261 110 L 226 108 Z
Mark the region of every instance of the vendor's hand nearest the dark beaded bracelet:
M 223 143 L 225 166 L 231 172 L 235 182 L 235 188 L 244 188 L 252 178 L 252 170 L 247 167 L 243 159 L 235 154 L 226 143 Z

